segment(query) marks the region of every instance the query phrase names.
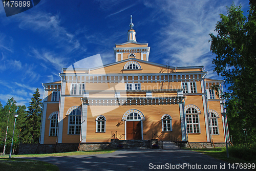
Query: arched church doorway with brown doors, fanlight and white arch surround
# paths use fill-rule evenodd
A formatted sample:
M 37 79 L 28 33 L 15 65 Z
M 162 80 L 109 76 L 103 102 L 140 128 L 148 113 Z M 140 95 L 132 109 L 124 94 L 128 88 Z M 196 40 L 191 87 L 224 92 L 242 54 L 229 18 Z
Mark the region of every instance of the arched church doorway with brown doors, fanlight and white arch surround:
M 122 120 L 125 121 L 125 139 L 143 139 L 143 120 L 144 115 L 136 109 L 128 110 L 124 113 Z

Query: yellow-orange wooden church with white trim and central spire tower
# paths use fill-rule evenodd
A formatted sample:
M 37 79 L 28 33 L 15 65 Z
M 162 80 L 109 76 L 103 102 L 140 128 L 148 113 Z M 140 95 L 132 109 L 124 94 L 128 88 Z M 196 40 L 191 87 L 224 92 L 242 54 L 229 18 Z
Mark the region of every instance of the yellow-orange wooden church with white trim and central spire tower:
M 44 83 L 41 144 L 119 140 L 225 142 L 222 100 L 204 66 L 170 67 L 150 62 L 150 47 L 136 41 L 131 21 L 127 41 L 116 44 L 115 62 L 67 68 L 60 81 Z

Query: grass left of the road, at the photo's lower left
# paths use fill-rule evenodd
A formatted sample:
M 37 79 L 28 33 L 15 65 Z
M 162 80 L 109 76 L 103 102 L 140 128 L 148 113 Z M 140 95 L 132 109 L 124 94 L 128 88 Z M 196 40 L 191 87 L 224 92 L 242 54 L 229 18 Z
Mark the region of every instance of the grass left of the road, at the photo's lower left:
M 9 155 L 0 156 L 0 169 L 5 171 L 58 171 L 59 168 L 56 165 L 28 159 L 19 159 L 18 157 L 45 157 L 45 156 L 75 156 L 75 155 L 95 155 L 95 154 L 106 154 L 113 153 L 115 149 L 104 149 L 100 151 L 90 152 L 69 152 L 69 153 L 53 153 L 53 154 L 35 154 L 35 155 L 12 155 L 9 159 Z

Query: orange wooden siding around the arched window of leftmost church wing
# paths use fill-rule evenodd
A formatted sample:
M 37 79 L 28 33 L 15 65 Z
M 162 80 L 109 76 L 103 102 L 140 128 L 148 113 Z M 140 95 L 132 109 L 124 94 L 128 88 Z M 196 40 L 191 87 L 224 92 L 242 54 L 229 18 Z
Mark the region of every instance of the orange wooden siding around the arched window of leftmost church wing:
M 53 112 L 58 112 L 58 111 L 59 111 L 58 103 L 54 103 L 54 104 L 48 103 L 47 104 L 44 144 L 55 144 L 56 143 L 57 137 L 49 136 L 50 120 L 48 118 Z

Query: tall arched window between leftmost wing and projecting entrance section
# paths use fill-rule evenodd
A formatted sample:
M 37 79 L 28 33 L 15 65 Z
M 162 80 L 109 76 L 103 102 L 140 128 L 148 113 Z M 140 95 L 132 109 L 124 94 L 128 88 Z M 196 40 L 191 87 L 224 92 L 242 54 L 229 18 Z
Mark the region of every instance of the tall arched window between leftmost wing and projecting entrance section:
M 74 109 L 69 114 L 69 131 L 71 135 L 79 135 L 81 131 L 81 111 Z

